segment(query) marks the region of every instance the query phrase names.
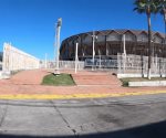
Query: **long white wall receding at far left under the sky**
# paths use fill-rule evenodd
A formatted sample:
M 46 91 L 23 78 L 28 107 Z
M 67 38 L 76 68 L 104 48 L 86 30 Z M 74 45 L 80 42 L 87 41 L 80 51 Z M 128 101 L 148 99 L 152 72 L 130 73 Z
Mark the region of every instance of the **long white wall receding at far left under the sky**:
M 12 46 L 3 44 L 3 66 L 4 72 L 39 68 L 40 60 Z

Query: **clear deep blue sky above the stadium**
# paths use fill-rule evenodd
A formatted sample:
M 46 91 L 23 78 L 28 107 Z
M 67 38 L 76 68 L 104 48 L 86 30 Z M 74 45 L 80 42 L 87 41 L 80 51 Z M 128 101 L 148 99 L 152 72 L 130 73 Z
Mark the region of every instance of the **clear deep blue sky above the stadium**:
M 62 18 L 61 41 L 92 30 L 147 30 L 146 15 L 133 11 L 134 0 L 0 0 L 0 51 L 11 42 L 39 59 L 53 59 L 54 29 Z M 152 17 L 164 32 L 163 18 Z

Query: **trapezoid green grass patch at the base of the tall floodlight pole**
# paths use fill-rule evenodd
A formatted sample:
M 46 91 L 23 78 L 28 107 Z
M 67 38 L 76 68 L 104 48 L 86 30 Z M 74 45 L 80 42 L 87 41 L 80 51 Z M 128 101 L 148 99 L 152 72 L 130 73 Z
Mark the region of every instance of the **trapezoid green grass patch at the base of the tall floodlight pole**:
M 75 83 L 70 74 L 49 74 L 43 77 L 42 85 L 71 86 L 75 85 Z

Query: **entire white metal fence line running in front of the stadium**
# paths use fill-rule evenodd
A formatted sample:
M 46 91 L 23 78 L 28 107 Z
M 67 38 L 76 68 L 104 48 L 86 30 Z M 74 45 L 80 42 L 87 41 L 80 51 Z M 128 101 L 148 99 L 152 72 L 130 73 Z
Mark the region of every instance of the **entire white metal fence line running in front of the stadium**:
M 74 70 L 75 61 L 60 61 L 60 70 Z M 56 63 L 42 61 L 42 68 L 55 68 Z M 146 76 L 148 71 L 148 56 L 133 54 L 117 54 L 110 59 L 89 57 L 85 61 L 77 61 L 77 70 L 111 71 L 117 74 L 139 74 Z M 166 59 L 152 57 L 152 75 L 166 76 Z

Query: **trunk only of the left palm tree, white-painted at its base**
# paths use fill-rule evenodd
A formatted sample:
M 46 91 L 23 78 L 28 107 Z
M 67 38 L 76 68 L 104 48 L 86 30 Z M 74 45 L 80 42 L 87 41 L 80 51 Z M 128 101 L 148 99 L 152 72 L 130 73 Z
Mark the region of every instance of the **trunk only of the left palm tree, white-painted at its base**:
M 151 65 L 152 65 L 152 30 L 151 30 L 151 13 L 147 13 L 148 21 L 148 71 L 147 77 L 151 79 Z

